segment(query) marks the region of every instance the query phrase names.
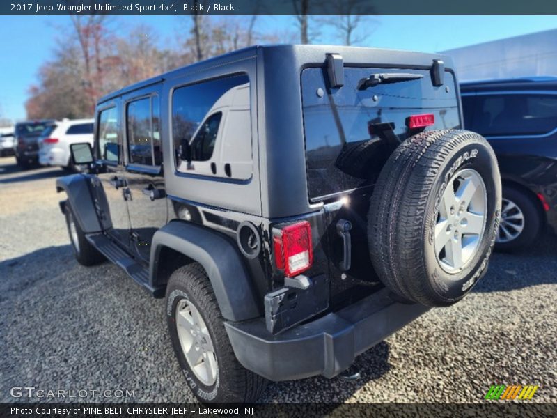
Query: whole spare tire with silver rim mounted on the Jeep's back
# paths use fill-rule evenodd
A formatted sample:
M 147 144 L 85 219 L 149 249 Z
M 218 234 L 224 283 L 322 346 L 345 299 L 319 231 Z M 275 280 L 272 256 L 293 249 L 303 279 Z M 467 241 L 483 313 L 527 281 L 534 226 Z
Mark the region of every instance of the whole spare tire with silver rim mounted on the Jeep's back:
M 373 267 L 395 295 L 453 304 L 485 273 L 500 217 L 499 167 L 483 137 L 416 134 L 389 157 L 371 197 Z

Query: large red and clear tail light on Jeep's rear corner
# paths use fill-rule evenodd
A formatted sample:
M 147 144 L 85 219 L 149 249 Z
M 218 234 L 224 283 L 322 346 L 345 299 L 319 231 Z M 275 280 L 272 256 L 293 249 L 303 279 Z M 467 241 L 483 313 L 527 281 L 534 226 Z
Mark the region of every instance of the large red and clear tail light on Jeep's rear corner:
M 285 226 L 273 237 L 274 261 L 286 277 L 294 277 L 311 268 L 311 226 L 309 222 L 297 222 Z

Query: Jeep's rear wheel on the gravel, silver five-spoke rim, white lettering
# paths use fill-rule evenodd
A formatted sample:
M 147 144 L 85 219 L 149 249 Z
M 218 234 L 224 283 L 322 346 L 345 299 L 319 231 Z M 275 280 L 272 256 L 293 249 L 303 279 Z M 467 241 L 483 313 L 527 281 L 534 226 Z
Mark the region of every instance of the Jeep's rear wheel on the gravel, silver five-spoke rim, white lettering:
M 219 305 L 198 263 L 179 268 L 166 286 L 168 331 L 191 392 L 203 403 L 253 403 L 267 380 L 236 359 Z

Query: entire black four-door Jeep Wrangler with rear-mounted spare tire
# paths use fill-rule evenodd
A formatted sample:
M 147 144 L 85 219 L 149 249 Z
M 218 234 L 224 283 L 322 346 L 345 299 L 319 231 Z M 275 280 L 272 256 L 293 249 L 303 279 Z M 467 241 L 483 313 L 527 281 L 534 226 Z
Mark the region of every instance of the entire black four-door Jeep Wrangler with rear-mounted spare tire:
M 155 297 L 203 402 L 332 378 L 482 277 L 501 182 L 445 56 L 249 47 L 100 99 L 59 178 L 77 261 Z M 125 297 L 123 295 L 123 297 Z

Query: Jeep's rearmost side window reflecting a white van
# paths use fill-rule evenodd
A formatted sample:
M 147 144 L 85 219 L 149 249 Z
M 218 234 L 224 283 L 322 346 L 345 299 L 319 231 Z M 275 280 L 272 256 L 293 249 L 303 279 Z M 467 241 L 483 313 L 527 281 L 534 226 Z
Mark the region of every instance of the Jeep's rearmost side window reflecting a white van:
M 175 89 L 172 136 L 178 171 L 239 179 L 251 176 L 249 87 L 246 75 L 235 75 Z M 184 144 L 189 144 L 194 164 L 182 160 Z

